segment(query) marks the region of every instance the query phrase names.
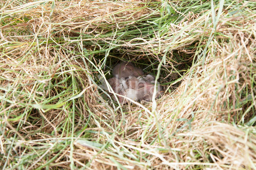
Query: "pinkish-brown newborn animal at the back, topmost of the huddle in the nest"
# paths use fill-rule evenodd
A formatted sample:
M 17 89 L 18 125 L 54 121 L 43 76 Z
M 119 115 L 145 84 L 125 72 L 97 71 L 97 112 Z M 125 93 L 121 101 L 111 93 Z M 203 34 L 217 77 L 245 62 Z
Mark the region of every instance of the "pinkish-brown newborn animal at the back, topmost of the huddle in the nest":
M 142 69 L 135 67 L 131 62 L 121 62 L 114 67 L 112 74 L 117 78 L 126 78 L 142 76 L 144 73 Z

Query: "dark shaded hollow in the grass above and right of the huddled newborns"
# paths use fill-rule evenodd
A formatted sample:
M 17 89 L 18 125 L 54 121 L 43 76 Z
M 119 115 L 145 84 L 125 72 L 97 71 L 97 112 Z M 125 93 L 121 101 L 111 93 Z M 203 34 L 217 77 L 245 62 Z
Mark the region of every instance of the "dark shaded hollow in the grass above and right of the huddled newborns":
M 100 57 L 100 56 L 99 56 Z M 158 82 L 164 92 L 172 93 L 182 82 L 182 76 L 188 72 L 192 66 L 194 53 L 186 53 L 179 50 L 173 50 L 166 55 L 166 63 L 162 64 Z M 158 65 L 162 60 L 162 55 L 150 55 L 140 53 L 123 53 L 112 51 L 106 61 L 107 67 L 104 68 L 106 79 L 113 77 L 112 69 L 123 61 L 130 61 L 134 66 L 143 70 L 144 75 L 156 76 Z M 166 92 L 166 93 L 165 93 Z

